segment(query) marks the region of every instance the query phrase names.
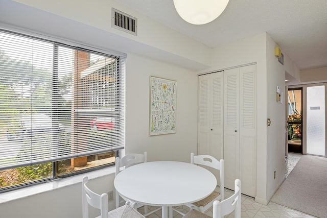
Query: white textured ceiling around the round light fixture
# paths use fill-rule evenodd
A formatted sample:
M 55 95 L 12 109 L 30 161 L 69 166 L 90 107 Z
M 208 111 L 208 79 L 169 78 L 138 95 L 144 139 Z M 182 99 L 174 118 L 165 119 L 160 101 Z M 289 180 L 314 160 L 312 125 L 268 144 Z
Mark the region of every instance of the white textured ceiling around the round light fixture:
M 327 0 L 230 0 L 206 25 L 182 20 L 173 0 L 116 1 L 209 47 L 267 32 L 299 69 L 327 66 Z

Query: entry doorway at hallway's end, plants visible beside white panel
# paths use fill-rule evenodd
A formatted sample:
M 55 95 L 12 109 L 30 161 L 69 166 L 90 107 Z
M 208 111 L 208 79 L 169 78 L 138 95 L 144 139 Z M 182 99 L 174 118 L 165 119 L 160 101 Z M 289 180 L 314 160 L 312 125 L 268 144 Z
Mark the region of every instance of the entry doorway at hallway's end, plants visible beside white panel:
M 327 83 L 287 87 L 288 152 L 327 157 Z

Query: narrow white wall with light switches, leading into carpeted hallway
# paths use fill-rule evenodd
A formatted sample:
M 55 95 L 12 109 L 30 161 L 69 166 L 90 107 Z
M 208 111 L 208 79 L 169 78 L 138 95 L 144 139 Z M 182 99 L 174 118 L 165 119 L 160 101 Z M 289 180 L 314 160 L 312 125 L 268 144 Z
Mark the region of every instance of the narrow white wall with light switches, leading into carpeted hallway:
M 271 125 L 267 128 L 267 199 L 270 199 L 285 179 L 286 151 L 286 104 L 276 102 L 276 86 L 285 94 L 285 65 L 274 56 L 277 44 L 267 35 L 267 118 Z M 284 64 L 289 63 L 284 55 Z M 289 63 L 292 65 L 292 63 Z M 276 178 L 274 179 L 274 171 Z

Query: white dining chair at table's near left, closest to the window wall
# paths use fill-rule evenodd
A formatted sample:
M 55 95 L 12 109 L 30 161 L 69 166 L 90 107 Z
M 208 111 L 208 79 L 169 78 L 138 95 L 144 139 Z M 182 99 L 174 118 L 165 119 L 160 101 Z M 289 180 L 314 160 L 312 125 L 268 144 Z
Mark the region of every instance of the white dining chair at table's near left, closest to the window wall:
M 83 177 L 83 218 L 89 218 L 88 216 L 88 206 L 100 209 L 100 216 L 97 218 L 145 218 L 141 213 L 137 212 L 134 208 L 127 202 L 125 205 L 111 210 L 108 212 L 108 195 L 103 193 L 98 195 L 96 192 L 92 191 L 87 187 L 88 177 Z

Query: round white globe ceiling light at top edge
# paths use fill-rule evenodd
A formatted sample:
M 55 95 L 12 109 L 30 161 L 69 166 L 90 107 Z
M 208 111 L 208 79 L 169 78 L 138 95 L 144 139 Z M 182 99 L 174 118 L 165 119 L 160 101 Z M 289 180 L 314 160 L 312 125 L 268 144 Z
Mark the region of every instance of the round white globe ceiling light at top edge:
M 173 0 L 177 13 L 186 22 L 202 25 L 213 21 L 227 7 L 229 0 Z

